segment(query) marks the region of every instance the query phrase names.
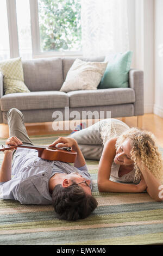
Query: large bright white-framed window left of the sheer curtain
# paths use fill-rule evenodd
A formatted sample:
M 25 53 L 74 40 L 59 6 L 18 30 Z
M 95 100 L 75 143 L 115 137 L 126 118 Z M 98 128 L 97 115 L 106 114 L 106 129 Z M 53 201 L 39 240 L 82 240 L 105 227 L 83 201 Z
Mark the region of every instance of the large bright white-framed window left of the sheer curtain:
M 0 60 L 82 54 L 81 0 L 1 0 Z

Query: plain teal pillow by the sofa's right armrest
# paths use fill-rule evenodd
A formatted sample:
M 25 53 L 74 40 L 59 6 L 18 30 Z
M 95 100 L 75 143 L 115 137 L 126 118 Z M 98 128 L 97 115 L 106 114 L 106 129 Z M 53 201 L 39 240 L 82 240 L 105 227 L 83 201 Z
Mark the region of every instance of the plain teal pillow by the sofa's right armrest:
M 133 52 L 110 54 L 105 57 L 108 62 L 98 89 L 128 87 L 128 72 L 130 70 Z

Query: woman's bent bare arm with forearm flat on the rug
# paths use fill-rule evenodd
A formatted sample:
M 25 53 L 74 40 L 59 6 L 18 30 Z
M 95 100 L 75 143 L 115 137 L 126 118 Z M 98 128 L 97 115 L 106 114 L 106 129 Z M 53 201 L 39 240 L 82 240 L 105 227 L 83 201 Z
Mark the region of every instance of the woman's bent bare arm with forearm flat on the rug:
M 104 145 L 103 153 L 98 167 L 98 190 L 100 192 L 142 192 L 146 188 L 145 184 L 142 184 L 142 186 L 137 186 L 135 184 L 123 184 L 109 180 L 111 165 L 116 154 L 116 140 L 117 138 L 110 139 Z

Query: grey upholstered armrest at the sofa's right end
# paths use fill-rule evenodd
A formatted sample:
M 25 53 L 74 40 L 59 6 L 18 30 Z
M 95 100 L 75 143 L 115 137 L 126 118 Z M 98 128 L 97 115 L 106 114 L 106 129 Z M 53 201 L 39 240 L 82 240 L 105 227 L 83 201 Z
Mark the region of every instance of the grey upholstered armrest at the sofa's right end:
M 130 69 L 129 87 L 135 91 L 134 115 L 144 114 L 144 84 L 143 71 Z

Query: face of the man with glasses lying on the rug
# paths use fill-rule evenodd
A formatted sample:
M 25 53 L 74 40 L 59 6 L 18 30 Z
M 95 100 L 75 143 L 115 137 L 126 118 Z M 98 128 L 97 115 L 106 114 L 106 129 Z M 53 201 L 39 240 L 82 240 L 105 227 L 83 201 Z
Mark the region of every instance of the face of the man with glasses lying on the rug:
M 82 182 L 82 183 L 78 184 L 78 186 L 82 187 L 83 190 L 85 191 L 85 193 L 90 194 L 90 195 L 92 194 L 91 188 L 90 188 L 91 181 L 83 178 L 83 176 L 80 175 L 78 172 L 73 172 L 73 173 L 67 174 L 66 178 L 70 179 L 72 182 L 76 182 L 77 184 Z

